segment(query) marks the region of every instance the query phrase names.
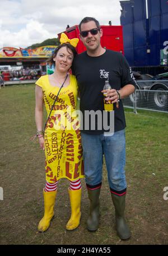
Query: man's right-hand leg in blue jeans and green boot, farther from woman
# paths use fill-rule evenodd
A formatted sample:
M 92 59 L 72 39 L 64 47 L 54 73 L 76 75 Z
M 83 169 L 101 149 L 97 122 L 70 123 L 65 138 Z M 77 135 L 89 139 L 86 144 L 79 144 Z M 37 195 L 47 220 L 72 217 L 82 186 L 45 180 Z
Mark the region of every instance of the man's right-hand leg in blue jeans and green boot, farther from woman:
M 108 170 L 108 181 L 111 198 L 115 207 L 116 231 L 121 239 L 130 238 L 130 230 L 125 221 L 125 131 L 115 132 L 113 136 L 105 137 L 104 155 Z

